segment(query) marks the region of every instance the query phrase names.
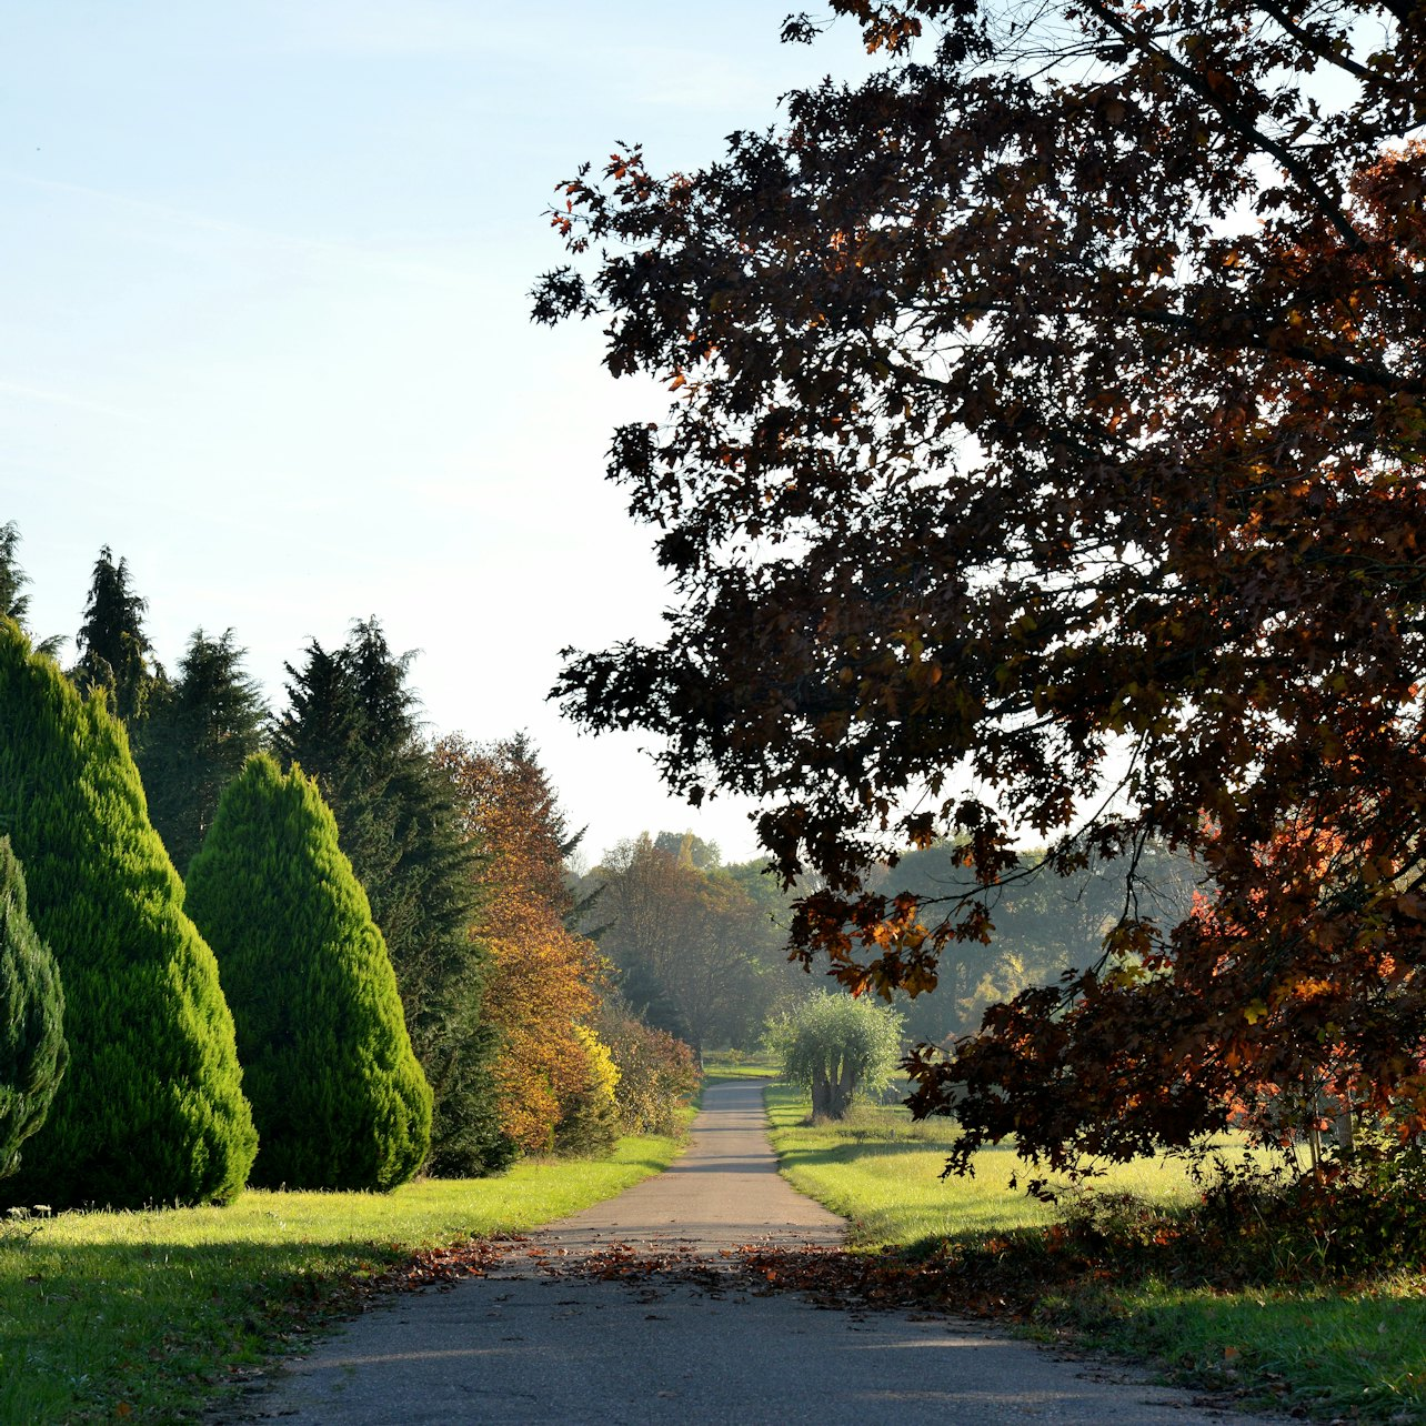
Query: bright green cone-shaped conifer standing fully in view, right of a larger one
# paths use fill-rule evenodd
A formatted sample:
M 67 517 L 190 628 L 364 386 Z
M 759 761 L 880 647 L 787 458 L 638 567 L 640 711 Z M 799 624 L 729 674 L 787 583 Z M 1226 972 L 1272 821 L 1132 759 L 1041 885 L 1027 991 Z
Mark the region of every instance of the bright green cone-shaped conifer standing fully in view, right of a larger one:
M 265 1188 L 388 1189 L 431 1145 L 386 944 L 317 784 L 251 757 L 188 870 L 238 1027 Z

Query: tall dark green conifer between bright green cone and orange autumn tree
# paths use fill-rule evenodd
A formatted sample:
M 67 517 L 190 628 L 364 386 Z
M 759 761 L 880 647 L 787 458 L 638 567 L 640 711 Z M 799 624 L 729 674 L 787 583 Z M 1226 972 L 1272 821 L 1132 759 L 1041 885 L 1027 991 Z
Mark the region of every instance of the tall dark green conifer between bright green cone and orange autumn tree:
M 468 934 L 476 853 L 422 737 L 411 657 L 391 652 L 375 619 L 337 652 L 312 640 L 302 666 L 287 666 L 272 743 L 317 779 L 386 938 L 435 1092 L 432 1171 L 483 1174 L 505 1166 L 511 1145 L 492 1075 L 498 1037 L 481 1011 L 489 957 Z

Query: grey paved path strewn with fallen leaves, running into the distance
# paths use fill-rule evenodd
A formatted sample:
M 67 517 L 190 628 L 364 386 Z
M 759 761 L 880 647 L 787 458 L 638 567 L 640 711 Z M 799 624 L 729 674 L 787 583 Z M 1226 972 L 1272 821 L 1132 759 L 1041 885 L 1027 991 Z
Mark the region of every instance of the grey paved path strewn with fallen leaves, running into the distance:
M 687 1154 L 666 1174 L 515 1245 L 488 1278 L 366 1313 L 218 1419 L 302 1426 L 1226 1419 L 1137 1373 L 1061 1360 L 977 1323 L 827 1310 L 753 1292 L 746 1279 L 717 1271 L 732 1246 L 829 1245 L 843 1226 L 779 1178 L 760 1085 L 712 1085 Z M 699 1266 L 682 1276 L 606 1276 L 623 1245 L 635 1256 L 673 1253 Z

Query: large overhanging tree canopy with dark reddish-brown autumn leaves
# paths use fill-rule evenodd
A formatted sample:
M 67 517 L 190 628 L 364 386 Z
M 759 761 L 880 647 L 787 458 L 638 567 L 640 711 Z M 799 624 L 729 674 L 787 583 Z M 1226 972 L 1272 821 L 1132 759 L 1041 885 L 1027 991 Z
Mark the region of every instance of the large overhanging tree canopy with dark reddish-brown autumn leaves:
M 1027 833 L 1127 856 L 1102 954 L 923 1067 L 965 1155 L 1181 1142 L 1325 1055 L 1426 1125 L 1426 14 L 831 10 L 886 56 L 860 87 L 565 185 L 536 317 L 676 394 L 610 473 L 677 603 L 558 692 L 763 799 L 853 987 L 990 934 L 974 891 L 868 888 L 907 843 L 964 837 L 980 887 Z M 1151 837 L 1214 915 L 1137 904 Z

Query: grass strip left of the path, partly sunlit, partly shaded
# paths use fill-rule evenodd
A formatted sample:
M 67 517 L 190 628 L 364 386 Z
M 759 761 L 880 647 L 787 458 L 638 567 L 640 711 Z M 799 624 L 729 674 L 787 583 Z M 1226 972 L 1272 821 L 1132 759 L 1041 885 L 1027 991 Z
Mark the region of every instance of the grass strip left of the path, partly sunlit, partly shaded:
M 228 1208 L 0 1229 L 0 1422 L 193 1419 L 425 1248 L 520 1232 L 665 1168 L 674 1139 L 394 1194 L 250 1191 Z

